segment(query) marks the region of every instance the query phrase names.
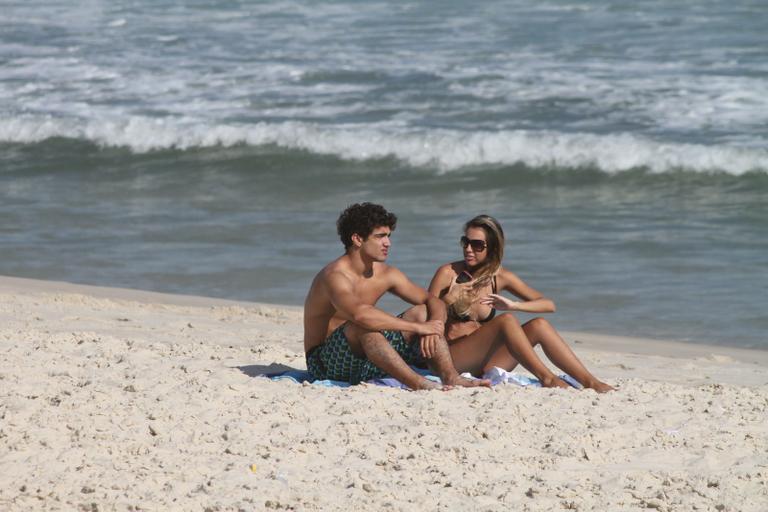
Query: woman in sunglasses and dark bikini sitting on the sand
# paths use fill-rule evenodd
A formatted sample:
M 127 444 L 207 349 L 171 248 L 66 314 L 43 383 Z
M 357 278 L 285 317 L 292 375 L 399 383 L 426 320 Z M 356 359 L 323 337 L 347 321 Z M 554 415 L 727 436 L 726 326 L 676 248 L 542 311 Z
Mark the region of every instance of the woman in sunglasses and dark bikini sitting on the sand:
M 554 313 L 555 304 L 501 266 L 504 232 L 498 221 L 479 215 L 464 226 L 464 259 L 437 269 L 429 291 L 448 305 L 446 339 L 460 372 L 480 376 L 498 366 L 512 370 L 518 363 L 545 387 L 569 387 L 552 373 L 534 351 L 541 345 L 555 366 L 598 393 L 613 388 L 592 375 L 552 325 L 543 318 L 520 325 L 514 315 L 497 311 Z M 502 291 L 522 299 L 510 300 Z

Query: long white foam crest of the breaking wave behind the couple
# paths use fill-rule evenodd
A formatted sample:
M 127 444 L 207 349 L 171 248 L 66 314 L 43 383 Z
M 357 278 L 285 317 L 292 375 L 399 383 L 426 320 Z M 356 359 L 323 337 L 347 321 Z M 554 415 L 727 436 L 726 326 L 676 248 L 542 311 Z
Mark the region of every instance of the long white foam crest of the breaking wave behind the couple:
M 594 135 L 502 131 L 464 133 L 414 131 L 403 127 L 323 126 L 308 123 L 208 125 L 190 119 L 130 117 L 113 121 L 56 118 L 0 119 L 0 140 L 32 143 L 51 137 L 85 139 L 135 152 L 159 149 L 275 144 L 344 159 L 394 157 L 412 166 L 446 172 L 468 166 L 597 167 L 620 172 L 638 167 L 724 171 L 739 175 L 768 171 L 768 151 L 733 146 L 656 142 L 630 134 Z

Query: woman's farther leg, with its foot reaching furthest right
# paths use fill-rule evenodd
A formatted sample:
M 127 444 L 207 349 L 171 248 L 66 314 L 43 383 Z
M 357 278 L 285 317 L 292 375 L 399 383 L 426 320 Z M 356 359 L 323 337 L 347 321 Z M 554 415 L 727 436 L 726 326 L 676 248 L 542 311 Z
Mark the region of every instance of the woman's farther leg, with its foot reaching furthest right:
M 592 388 L 598 393 L 613 390 L 613 387 L 598 380 L 587 370 L 557 330 L 545 319 L 539 317 L 526 322 L 523 324 L 523 332 L 525 332 L 532 347 L 541 345 L 549 360 L 576 379 L 582 386 Z M 512 370 L 517 366 L 518 361 L 509 351 L 505 352 L 504 347 L 499 348 L 500 350 L 491 356 L 488 362 L 489 366 L 499 366 L 505 370 Z

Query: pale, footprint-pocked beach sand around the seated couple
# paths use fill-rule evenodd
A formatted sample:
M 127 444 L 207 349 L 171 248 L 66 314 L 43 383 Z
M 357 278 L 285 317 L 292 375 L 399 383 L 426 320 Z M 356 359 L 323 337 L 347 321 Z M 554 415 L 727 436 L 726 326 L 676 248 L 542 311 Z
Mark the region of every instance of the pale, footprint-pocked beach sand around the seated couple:
M 768 353 L 568 334 L 619 391 L 328 389 L 301 311 L 0 278 L 0 510 L 768 510 Z

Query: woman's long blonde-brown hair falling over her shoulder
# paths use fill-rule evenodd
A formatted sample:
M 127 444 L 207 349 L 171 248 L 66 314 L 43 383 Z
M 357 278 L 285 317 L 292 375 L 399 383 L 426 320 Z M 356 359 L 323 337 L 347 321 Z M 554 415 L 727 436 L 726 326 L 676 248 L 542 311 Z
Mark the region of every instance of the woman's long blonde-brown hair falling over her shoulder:
M 449 304 L 456 316 L 465 316 L 472 308 L 477 291 L 485 286 L 498 274 L 501 261 L 504 259 L 504 231 L 499 221 L 490 215 L 478 215 L 464 224 L 464 233 L 469 228 L 480 228 L 485 232 L 486 255 L 485 261 L 474 269 L 472 286 L 463 290 Z

